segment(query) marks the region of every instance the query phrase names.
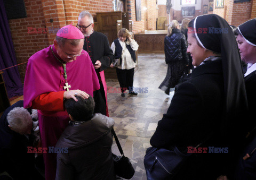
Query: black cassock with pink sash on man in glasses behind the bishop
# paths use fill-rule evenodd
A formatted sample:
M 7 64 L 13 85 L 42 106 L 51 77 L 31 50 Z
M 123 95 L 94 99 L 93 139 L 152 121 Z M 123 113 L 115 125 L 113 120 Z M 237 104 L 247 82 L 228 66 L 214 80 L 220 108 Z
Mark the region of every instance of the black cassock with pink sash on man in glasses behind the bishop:
M 93 31 L 89 37 L 84 38 L 83 49 L 86 50 L 91 57 L 92 63 L 95 63 L 97 60 L 101 62 L 101 67 L 95 69 L 99 78 L 100 89 L 93 92 L 95 101 L 94 113 L 101 113 L 108 116 L 107 84 L 103 70 L 108 68 L 113 62 L 113 51 L 109 47 L 107 36 L 97 31 Z

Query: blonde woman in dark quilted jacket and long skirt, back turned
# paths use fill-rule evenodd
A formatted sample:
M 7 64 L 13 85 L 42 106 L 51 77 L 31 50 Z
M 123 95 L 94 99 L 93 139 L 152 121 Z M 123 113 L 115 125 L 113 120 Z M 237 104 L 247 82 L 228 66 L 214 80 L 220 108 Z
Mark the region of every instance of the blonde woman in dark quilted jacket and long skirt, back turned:
M 164 39 L 165 62 L 168 64 L 168 68 L 166 77 L 158 88 L 167 95 L 169 95 L 170 89 L 179 83 L 181 76 L 186 71 L 186 65 L 189 63 L 186 53 L 187 41 L 179 28 L 178 21 L 173 20 Z

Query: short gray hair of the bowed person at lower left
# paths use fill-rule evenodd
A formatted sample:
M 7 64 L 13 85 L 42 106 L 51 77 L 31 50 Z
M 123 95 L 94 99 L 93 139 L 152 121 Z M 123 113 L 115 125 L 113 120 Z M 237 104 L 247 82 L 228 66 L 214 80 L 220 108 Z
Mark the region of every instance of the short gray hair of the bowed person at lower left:
M 7 122 L 14 130 L 21 130 L 32 122 L 32 118 L 27 109 L 15 107 L 7 114 Z

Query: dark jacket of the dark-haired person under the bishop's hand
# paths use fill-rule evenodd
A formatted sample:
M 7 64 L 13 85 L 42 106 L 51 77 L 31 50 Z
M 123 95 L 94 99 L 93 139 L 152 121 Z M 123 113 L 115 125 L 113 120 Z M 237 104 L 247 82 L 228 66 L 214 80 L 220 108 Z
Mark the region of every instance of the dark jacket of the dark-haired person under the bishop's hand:
M 56 179 L 115 179 L 111 145 L 114 120 L 102 114 L 82 124 L 71 123 L 62 133 L 58 153 Z

